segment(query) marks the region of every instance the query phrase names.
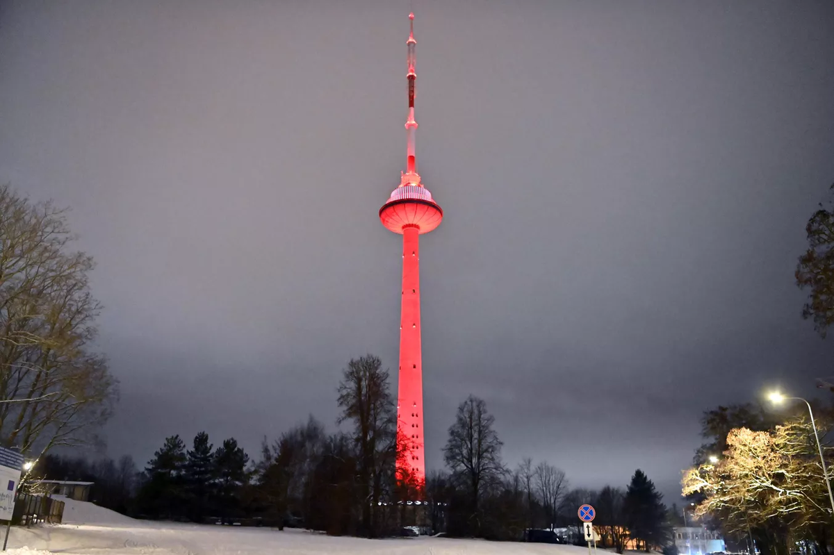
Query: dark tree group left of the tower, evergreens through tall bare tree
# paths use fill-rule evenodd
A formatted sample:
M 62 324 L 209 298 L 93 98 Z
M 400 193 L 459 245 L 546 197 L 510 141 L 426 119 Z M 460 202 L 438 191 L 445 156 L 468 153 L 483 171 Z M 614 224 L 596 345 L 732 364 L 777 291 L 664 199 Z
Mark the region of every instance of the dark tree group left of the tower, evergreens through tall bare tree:
M 249 519 L 369 537 L 394 529 L 388 502 L 420 484 L 395 475 L 407 442 L 397 438 L 396 404 L 379 358 L 351 360 L 339 383 L 339 423 L 326 433 L 312 416 L 269 443 L 258 460 L 234 439 L 213 450 L 199 433 L 187 449 L 167 438 L 148 463 L 136 502 L 140 515 L 193 522 Z M 383 504 L 385 502 L 385 504 Z

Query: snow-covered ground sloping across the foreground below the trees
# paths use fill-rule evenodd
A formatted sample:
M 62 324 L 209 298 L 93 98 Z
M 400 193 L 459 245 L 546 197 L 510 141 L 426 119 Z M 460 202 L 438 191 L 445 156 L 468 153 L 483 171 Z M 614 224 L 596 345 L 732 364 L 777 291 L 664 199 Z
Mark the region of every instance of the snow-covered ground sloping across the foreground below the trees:
M 93 503 L 67 500 L 59 526 L 13 527 L 10 555 L 584 555 L 585 548 L 440 537 L 366 540 L 301 530 L 197 526 L 133 520 Z

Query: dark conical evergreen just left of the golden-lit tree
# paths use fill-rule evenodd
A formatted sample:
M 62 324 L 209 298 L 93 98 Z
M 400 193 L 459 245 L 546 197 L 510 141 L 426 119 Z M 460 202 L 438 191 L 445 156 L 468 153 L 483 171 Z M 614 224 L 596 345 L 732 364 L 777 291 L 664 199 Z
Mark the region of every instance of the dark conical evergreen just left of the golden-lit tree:
M 639 468 L 631 477 L 625 493 L 625 523 L 631 537 L 643 543 L 646 551 L 652 546 L 663 547 L 669 541 L 666 506 L 655 484 Z

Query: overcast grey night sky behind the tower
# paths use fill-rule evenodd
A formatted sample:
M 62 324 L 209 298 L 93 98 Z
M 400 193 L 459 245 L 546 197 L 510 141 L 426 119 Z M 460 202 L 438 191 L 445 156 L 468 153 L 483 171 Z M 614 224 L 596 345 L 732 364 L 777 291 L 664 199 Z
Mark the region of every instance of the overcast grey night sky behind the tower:
M 397 368 L 409 8 L 428 468 L 469 393 L 515 464 L 667 497 L 701 411 L 814 394 L 806 219 L 834 182 L 834 3 L 0 5 L 0 182 L 73 208 L 122 382 L 109 453 L 257 454 L 345 363 Z

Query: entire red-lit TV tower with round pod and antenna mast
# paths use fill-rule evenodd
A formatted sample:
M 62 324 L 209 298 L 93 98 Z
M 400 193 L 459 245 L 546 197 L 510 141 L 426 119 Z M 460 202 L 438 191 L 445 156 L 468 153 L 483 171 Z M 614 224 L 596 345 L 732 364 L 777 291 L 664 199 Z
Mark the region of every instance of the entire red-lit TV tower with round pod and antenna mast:
M 425 481 L 423 436 L 423 356 L 420 347 L 420 246 L 419 238 L 440 225 L 443 210 L 431 198 L 429 189 L 420 183 L 414 153 L 414 13 L 409 13 L 408 45 L 409 116 L 405 122 L 408 147 L 405 172 L 387 203 L 379 208 L 382 225 L 403 236 L 402 313 L 399 317 L 399 391 L 397 393 L 397 428 L 410 438 L 413 448 L 406 460 L 398 458 L 397 473 L 407 471 L 418 483 Z M 408 466 L 404 466 L 408 465 Z

